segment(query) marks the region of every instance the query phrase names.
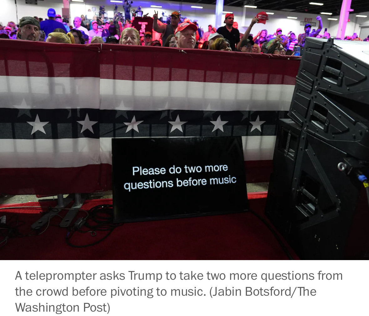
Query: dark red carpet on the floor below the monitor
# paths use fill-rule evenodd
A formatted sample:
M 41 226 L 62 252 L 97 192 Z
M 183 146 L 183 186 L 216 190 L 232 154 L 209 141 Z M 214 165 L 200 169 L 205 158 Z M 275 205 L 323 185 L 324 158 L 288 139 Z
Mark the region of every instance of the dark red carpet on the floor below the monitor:
M 263 218 L 266 194 L 249 194 L 251 210 Z M 49 205 L 49 202 L 46 206 Z M 111 199 L 89 200 L 84 210 L 100 204 L 112 204 Z M 14 206 L 36 206 L 26 203 Z M 54 204 L 55 205 L 55 204 Z M 53 206 L 54 206 L 53 205 Z M 1 207 L 8 207 L 3 205 Z M 45 206 L 45 204 L 43 204 Z M 66 211 L 59 214 L 64 215 Z M 29 234 L 30 225 L 42 215 L 37 209 L 0 210 L 10 226 L 17 223 L 17 231 Z M 13 216 L 14 215 L 14 216 Z M 13 217 L 12 217 L 13 216 Z M 76 218 L 85 216 L 80 212 Z M 121 225 L 97 245 L 75 248 L 67 245 L 66 228 L 59 227 L 61 218 L 54 216 L 45 232 L 37 236 L 11 237 L 0 244 L 3 260 L 285 260 L 286 253 L 272 232 L 252 213 L 236 213 L 176 220 L 136 222 Z M 44 231 L 46 225 L 39 229 Z M 86 227 L 82 227 L 86 231 Z M 11 234 L 17 234 L 17 231 Z M 8 230 L 1 230 L 4 236 Z M 35 234 L 35 231 L 31 232 Z M 75 232 L 69 239 L 75 245 L 96 242 L 106 235 L 97 232 Z M 0 234 L 0 242 L 4 239 Z M 285 245 L 286 242 L 284 242 Z M 288 246 L 294 259 L 298 259 Z

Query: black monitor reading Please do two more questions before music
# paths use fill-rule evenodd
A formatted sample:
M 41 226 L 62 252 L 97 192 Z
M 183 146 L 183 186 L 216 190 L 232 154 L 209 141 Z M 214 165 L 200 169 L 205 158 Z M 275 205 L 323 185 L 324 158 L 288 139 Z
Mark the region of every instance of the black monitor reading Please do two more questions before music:
M 113 138 L 114 222 L 248 208 L 241 137 Z

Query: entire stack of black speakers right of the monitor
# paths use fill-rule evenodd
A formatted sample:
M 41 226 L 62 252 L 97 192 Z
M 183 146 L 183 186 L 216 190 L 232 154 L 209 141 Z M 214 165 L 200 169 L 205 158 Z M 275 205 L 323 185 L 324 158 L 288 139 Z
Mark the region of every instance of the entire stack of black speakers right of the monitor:
M 307 38 L 266 215 L 301 259 L 369 259 L 369 42 Z

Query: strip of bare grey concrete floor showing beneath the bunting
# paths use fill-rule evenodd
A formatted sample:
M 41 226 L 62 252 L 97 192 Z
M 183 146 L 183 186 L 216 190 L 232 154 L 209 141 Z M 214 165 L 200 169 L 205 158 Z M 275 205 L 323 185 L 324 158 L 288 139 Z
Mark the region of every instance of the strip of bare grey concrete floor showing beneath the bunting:
M 248 183 L 247 184 L 247 192 L 265 192 L 268 191 L 269 182 L 260 182 L 260 183 Z M 65 195 L 64 197 L 66 197 Z M 112 199 L 113 192 L 95 192 L 89 194 L 87 199 Z M 0 205 L 1 204 L 18 204 L 18 203 L 27 203 L 27 202 L 37 202 L 39 200 L 50 199 L 50 197 L 38 198 L 35 195 L 8 195 L 8 194 L 0 194 Z M 54 199 L 57 200 L 57 196 L 54 196 Z

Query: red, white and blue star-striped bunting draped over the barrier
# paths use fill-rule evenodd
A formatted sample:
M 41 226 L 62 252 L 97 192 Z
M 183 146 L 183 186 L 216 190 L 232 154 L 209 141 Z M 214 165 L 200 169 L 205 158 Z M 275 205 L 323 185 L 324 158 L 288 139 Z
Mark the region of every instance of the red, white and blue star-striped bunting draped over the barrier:
M 111 189 L 112 137 L 242 136 L 245 161 L 262 165 L 300 60 L 109 44 L 0 47 L 0 192 L 9 194 Z

